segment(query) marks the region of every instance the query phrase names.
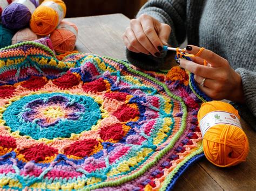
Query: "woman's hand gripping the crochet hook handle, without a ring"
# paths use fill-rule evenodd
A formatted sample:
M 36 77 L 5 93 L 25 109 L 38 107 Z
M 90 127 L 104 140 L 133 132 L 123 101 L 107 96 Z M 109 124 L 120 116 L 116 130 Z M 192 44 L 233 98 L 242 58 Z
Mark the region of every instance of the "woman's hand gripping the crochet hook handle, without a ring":
M 130 21 L 130 26 L 123 34 L 123 41 L 127 49 L 132 52 L 141 52 L 160 56 L 163 44 L 167 44 L 171 33 L 171 27 L 158 22 L 157 19 L 141 15 Z

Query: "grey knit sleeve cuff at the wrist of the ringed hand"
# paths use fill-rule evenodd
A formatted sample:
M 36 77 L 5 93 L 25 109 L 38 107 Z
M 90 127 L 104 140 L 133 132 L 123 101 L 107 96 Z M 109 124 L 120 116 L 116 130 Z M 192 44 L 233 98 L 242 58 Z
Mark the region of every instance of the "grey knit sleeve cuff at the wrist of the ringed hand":
M 234 106 L 239 110 L 241 117 L 256 131 L 256 71 L 237 68 L 235 72 L 239 73 L 242 79 L 245 104 L 234 103 Z

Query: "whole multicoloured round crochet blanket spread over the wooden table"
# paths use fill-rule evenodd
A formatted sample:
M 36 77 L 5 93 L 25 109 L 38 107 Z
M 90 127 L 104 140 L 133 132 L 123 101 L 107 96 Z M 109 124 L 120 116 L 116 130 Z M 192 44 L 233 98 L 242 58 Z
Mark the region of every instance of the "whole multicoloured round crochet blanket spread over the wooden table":
M 139 72 L 39 43 L 0 51 L 0 187 L 172 188 L 203 154 L 185 70 Z

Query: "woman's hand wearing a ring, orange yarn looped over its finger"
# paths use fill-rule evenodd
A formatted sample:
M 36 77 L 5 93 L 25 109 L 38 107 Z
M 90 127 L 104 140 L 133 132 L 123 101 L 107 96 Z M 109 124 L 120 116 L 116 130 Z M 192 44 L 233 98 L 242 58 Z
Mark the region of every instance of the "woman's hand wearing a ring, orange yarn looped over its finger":
M 190 54 L 197 54 L 199 47 L 189 45 L 186 51 Z M 179 59 L 180 67 L 192 72 L 198 87 L 213 100 L 231 100 L 244 102 L 241 76 L 231 68 L 228 61 L 221 56 L 204 49 L 193 61 Z M 204 60 L 207 66 L 204 66 Z M 205 80 L 204 80 L 205 79 Z

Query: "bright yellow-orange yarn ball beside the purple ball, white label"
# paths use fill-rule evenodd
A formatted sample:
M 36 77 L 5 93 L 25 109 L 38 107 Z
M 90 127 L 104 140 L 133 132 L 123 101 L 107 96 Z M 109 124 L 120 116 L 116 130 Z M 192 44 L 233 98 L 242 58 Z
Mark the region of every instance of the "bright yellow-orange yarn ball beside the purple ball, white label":
M 66 15 L 66 5 L 61 0 L 45 0 L 36 8 L 30 27 L 38 35 L 46 36 L 56 29 Z

